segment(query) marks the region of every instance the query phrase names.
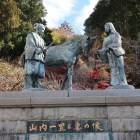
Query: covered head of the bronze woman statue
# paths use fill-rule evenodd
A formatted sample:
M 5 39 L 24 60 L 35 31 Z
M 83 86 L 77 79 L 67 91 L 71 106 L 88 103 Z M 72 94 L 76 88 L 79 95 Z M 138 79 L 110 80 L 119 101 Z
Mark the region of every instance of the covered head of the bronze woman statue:
M 116 29 L 115 29 L 114 25 L 111 22 L 106 23 L 104 28 L 105 28 L 105 32 L 107 34 L 116 32 Z

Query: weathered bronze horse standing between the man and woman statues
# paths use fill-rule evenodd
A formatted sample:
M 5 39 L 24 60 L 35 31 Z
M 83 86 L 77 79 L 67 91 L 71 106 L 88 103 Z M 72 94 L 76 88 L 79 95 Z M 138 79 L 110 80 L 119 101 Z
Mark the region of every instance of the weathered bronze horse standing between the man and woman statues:
M 48 48 L 45 56 L 45 64 L 49 67 L 66 66 L 67 72 L 62 83 L 61 89 L 65 88 L 68 80 L 68 90 L 72 90 L 73 67 L 78 55 L 83 53 L 84 58 L 88 57 L 88 53 L 95 38 L 91 39 L 86 35 L 81 35 L 66 41 L 59 46 L 51 46 Z

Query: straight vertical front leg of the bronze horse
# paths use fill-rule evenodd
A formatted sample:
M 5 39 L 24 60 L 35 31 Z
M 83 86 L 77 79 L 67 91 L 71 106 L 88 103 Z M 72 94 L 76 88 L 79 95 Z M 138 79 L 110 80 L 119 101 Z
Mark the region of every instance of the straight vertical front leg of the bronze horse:
M 72 75 L 73 75 L 73 65 L 68 66 L 68 90 L 72 90 Z

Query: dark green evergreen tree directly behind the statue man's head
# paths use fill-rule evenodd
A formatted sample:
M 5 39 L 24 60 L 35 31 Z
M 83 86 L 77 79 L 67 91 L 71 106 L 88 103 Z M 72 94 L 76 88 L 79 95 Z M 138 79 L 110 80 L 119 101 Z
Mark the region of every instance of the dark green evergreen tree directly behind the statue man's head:
M 8 3 L 8 0 L 6 0 Z M 14 28 L 12 36 L 8 42 L 12 42 L 12 48 L 6 45 L 2 49 L 3 56 L 12 56 L 13 58 L 21 55 L 24 51 L 25 39 L 29 32 L 34 30 L 34 23 L 42 22 L 46 24 L 42 17 L 46 15 L 42 0 L 14 0 L 20 9 L 19 26 Z

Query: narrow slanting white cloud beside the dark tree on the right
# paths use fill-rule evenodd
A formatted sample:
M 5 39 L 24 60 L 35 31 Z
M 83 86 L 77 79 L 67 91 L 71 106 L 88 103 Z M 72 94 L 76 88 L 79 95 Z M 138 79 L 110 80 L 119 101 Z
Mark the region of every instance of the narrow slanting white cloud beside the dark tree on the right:
M 75 26 L 81 34 L 84 33 L 84 21 L 89 17 L 89 15 L 93 12 L 94 7 L 98 3 L 99 0 L 89 0 L 89 4 L 85 5 L 83 9 L 79 12 L 79 15 L 75 18 Z

